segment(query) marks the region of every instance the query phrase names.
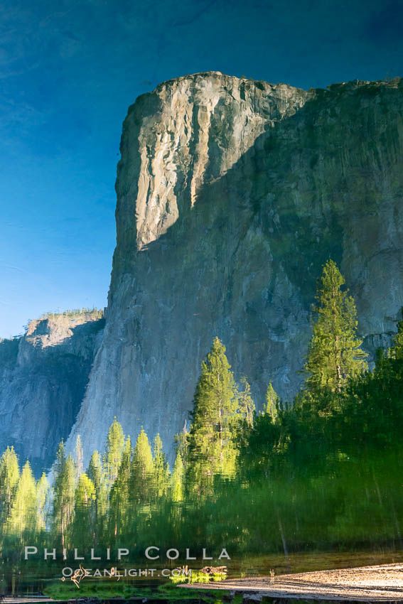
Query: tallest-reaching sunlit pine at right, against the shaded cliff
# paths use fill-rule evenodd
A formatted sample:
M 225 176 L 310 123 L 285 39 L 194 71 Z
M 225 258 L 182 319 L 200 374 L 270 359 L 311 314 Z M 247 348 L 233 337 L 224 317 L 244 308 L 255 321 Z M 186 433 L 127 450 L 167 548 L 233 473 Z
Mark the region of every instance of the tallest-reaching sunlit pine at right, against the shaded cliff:
M 313 310 L 316 321 L 305 363 L 306 389 L 318 397 L 323 389 L 341 391 L 348 377 L 357 377 L 367 369 L 366 352 L 357 337 L 357 313 L 348 290 L 342 290 L 343 276 L 333 260 L 323 266 L 321 284 Z

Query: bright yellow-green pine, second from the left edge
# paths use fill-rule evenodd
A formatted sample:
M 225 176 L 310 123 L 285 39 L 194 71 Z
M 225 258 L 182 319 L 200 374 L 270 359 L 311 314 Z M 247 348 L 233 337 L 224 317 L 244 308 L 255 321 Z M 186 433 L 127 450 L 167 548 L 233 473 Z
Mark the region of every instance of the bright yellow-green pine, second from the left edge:
M 27 531 L 35 533 L 39 527 L 36 482 L 29 461 L 23 466 L 16 495 L 7 520 L 7 532 L 23 538 Z

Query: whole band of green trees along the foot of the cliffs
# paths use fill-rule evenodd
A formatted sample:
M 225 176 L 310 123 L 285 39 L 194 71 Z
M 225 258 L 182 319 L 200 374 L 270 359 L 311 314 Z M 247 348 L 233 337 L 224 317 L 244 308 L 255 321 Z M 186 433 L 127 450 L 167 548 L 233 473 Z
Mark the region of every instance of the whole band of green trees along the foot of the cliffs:
M 303 384 L 282 401 L 273 384 L 256 411 L 215 338 L 195 388 L 190 428 L 169 468 L 159 435 L 135 443 L 115 418 L 104 452 L 60 443 L 52 486 L 0 459 L 3 556 L 16 545 L 61 548 L 195 544 L 233 551 L 402 542 L 403 322 L 368 369 L 353 298 L 329 260 L 318 281 Z

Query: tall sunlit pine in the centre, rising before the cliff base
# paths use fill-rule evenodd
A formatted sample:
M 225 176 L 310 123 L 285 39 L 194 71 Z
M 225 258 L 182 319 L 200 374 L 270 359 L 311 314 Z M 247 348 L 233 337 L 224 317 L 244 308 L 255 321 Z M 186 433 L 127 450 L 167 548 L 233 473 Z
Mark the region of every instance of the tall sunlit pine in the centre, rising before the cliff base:
M 218 338 L 202 363 L 193 399 L 188 445 L 189 483 L 203 488 L 214 475 L 235 471 L 233 440 L 239 398 L 225 346 Z

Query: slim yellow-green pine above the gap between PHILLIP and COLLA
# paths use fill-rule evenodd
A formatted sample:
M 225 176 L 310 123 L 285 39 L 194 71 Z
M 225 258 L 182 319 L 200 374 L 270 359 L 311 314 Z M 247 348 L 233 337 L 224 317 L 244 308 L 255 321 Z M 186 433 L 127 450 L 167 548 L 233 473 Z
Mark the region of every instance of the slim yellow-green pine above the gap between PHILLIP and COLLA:
M 134 503 L 148 502 L 154 482 L 154 461 L 149 438 L 141 428 L 131 462 L 130 497 Z

